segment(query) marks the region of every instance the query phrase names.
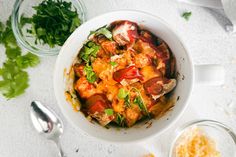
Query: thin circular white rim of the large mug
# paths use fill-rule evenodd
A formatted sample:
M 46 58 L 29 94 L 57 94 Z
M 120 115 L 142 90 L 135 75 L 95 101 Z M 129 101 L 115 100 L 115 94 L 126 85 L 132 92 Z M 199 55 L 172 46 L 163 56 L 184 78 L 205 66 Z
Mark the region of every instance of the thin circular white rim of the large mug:
M 185 101 L 184 103 L 182 104 L 183 107 L 182 109 L 180 110 L 180 112 L 178 113 L 178 115 L 172 119 L 171 121 L 169 121 L 168 125 L 166 125 L 165 127 L 163 127 L 162 129 L 160 129 L 160 131 L 156 132 L 156 133 L 153 133 L 153 134 L 150 134 L 144 138 L 140 138 L 140 139 L 135 139 L 135 140 L 131 140 L 131 141 L 116 141 L 116 140 L 108 140 L 108 139 L 102 139 L 100 137 L 97 137 L 97 136 L 94 136 L 92 134 L 89 134 L 87 132 L 85 132 L 84 129 L 82 129 L 81 127 L 79 127 L 78 125 L 74 124 L 72 121 L 70 121 L 70 117 L 67 115 L 67 113 L 64 111 L 64 108 L 63 106 L 60 104 L 59 100 L 61 99 L 59 97 L 59 89 L 57 87 L 57 78 L 56 76 L 58 75 L 57 73 L 59 72 L 59 69 L 58 69 L 58 65 L 60 64 L 59 63 L 59 58 L 61 58 L 61 54 L 62 53 L 59 53 L 58 55 L 58 58 L 56 60 L 56 64 L 55 64 L 55 68 L 54 68 L 54 78 L 53 78 L 53 83 L 54 83 L 54 93 L 55 93 L 55 96 L 56 96 L 56 99 L 57 99 L 57 103 L 58 103 L 58 106 L 61 110 L 61 112 L 63 113 L 63 115 L 66 117 L 66 119 L 69 121 L 69 123 L 74 127 L 76 128 L 76 130 L 82 132 L 82 133 L 85 133 L 86 135 L 89 135 L 90 137 L 93 137 L 94 139 L 97 139 L 97 140 L 100 140 L 100 141 L 103 141 L 103 142 L 109 142 L 109 143 L 114 143 L 114 144 L 129 144 L 129 143 L 136 143 L 136 142 L 143 142 L 145 140 L 148 140 L 152 137 L 156 137 L 160 134 L 162 134 L 164 131 L 166 131 L 167 129 L 169 129 L 171 126 L 173 126 L 174 123 L 176 123 L 180 117 L 183 115 L 184 111 L 186 110 L 188 104 L 189 104 L 189 100 L 190 100 L 190 97 L 191 97 L 191 93 L 192 93 L 192 90 L 193 90 L 193 84 L 194 84 L 194 78 L 195 78 L 195 72 L 194 72 L 194 66 L 193 66 L 193 61 L 192 61 L 192 58 L 190 57 L 190 53 L 186 47 L 186 45 L 184 44 L 182 38 L 178 35 L 178 33 L 175 31 L 175 29 L 173 27 L 171 27 L 165 20 L 163 20 L 161 17 L 159 16 L 156 16 L 156 15 L 153 15 L 151 13 L 148 13 L 148 12 L 145 12 L 145 11 L 140 11 L 140 10 L 134 10 L 134 9 L 121 9 L 121 10 L 116 10 L 116 11 L 111 11 L 111 12 L 107 12 L 107 13 L 104 13 L 104 14 L 100 14 L 96 17 L 93 17 L 91 19 L 89 19 L 88 21 L 86 21 L 85 23 L 83 23 L 83 25 L 86 25 L 88 22 L 90 21 L 93 21 L 95 19 L 99 19 L 103 16 L 106 16 L 106 15 L 109 15 L 109 14 L 114 14 L 114 13 L 141 13 L 141 14 L 145 14 L 147 16 L 150 16 L 156 20 L 158 20 L 159 22 L 163 23 L 165 25 L 165 27 L 167 27 L 168 29 L 171 30 L 171 33 L 173 33 L 179 40 L 181 46 L 183 47 L 183 49 L 186 51 L 186 57 L 187 59 L 189 60 L 189 69 L 190 69 L 190 72 L 192 74 L 192 77 L 190 79 L 190 87 L 189 87 L 189 94 L 186 96 L 185 98 Z M 78 28 L 77 28 L 78 29 Z M 76 30 L 75 30 L 76 31 Z M 73 33 L 72 33 L 73 34 Z M 65 43 L 68 43 L 69 41 L 71 40 L 71 36 L 67 39 L 67 41 Z M 62 46 L 61 50 L 60 51 L 63 51 L 64 49 L 64 45 Z

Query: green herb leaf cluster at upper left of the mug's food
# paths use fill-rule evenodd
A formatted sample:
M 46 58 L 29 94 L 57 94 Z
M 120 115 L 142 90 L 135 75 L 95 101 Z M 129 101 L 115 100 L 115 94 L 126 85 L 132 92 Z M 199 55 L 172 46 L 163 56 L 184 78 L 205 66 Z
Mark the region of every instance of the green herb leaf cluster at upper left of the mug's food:
M 97 52 L 100 49 L 100 46 L 95 44 L 92 41 L 89 41 L 84 45 L 82 51 L 80 52 L 80 57 L 86 62 L 89 63 L 91 58 L 97 57 Z

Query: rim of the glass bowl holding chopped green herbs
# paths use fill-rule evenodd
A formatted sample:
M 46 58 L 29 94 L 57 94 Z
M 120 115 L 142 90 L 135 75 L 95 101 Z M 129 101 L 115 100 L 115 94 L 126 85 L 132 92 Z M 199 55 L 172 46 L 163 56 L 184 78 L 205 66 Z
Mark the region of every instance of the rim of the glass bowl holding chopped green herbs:
M 17 43 L 25 48 L 26 50 L 30 51 L 31 53 L 37 55 L 37 56 L 55 56 L 60 52 L 61 47 L 57 48 L 50 48 L 50 49 L 40 49 L 40 48 L 33 48 L 30 44 L 27 43 L 27 41 L 24 40 L 23 36 L 20 33 L 19 24 L 18 24 L 18 16 L 19 16 L 19 9 L 24 0 L 17 0 L 15 1 L 13 5 L 12 10 L 12 16 L 11 16 L 11 27 L 13 34 L 16 38 Z M 79 16 L 81 16 L 81 25 L 86 22 L 86 7 L 84 5 L 83 0 L 70 0 L 73 6 L 76 6 L 76 8 L 80 8 L 80 10 L 77 9 L 77 12 L 79 12 Z

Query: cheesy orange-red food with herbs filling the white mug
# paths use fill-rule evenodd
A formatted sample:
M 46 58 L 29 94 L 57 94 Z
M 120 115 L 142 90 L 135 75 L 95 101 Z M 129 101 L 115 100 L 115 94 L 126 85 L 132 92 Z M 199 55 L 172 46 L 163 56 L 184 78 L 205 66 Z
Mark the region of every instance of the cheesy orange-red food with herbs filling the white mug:
M 92 31 L 72 71 L 80 110 L 102 126 L 131 127 L 172 107 L 175 57 L 162 39 L 135 22 L 115 21 Z

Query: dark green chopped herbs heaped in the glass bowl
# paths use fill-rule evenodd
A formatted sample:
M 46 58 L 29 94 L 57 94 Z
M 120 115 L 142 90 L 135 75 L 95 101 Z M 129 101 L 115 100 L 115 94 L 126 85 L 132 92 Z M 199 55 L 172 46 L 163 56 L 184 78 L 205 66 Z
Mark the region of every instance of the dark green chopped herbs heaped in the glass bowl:
M 36 37 L 36 44 L 40 42 L 48 44 L 50 47 L 62 46 L 70 34 L 81 24 L 71 2 L 43 0 L 33 8 L 36 13 L 32 18 L 24 18 L 23 22 L 31 24 L 32 27 L 28 33 Z

